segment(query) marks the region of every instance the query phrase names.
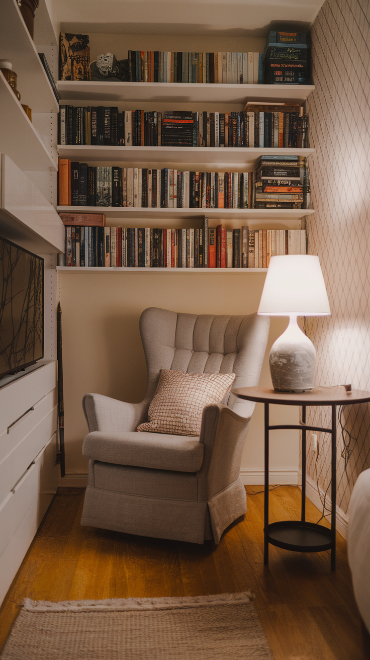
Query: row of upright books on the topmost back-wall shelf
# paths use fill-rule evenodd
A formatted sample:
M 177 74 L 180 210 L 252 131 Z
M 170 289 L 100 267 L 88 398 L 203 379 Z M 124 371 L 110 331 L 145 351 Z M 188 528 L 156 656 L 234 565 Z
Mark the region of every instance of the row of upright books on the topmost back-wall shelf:
M 128 56 L 132 82 L 262 82 L 263 53 L 129 50 Z

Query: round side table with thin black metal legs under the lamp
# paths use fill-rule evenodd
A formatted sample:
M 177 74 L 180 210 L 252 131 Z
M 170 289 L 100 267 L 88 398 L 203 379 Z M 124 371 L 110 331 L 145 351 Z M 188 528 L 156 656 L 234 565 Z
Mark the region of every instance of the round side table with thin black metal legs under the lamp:
M 264 564 L 268 564 L 268 544 L 296 550 L 297 552 L 322 552 L 330 550 L 330 567 L 335 570 L 335 533 L 336 533 L 336 407 L 370 401 L 370 392 L 352 389 L 347 391 L 344 385 L 336 387 L 314 387 L 309 392 L 279 392 L 270 387 L 241 387 L 232 393 L 240 399 L 264 403 Z M 270 403 L 302 407 L 300 424 L 279 424 L 270 426 L 268 406 Z M 332 409 L 331 428 L 309 426 L 306 424 L 307 406 L 330 406 Z M 280 521 L 268 524 L 268 447 L 269 433 L 276 429 L 295 428 L 302 432 L 302 500 L 301 520 Z M 306 500 L 306 432 L 323 431 L 332 436 L 332 521 L 331 529 L 308 523 L 305 519 Z

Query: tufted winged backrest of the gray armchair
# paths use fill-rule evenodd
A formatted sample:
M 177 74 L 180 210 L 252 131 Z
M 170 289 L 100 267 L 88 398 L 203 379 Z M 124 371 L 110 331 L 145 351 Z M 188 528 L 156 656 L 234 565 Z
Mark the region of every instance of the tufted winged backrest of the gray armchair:
M 148 308 L 140 317 L 146 358 L 146 401 L 151 401 L 161 369 L 190 374 L 235 374 L 234 387 L 258 385 L 270 319 L 266 316 L 181 314 Z M 228 394 L 222 402 L 249 417 L 254 404 Z

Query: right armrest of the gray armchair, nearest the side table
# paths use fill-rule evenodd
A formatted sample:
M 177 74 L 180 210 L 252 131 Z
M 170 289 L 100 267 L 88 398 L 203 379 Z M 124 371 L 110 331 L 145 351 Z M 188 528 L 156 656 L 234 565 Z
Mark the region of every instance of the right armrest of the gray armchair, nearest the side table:
M 251 417 L 241 417 L 228 406 L 212 405 L 204 408 L 200 430 L 204 458 L 197 473 L 201 498 L 210 500 L 239 478 L 241 455 L 250 421 Z

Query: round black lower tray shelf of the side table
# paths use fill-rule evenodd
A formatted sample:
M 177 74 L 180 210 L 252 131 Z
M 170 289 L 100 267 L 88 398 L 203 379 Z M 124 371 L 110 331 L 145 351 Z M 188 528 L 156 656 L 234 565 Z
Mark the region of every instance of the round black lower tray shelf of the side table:
M 317 523 L 279 521 L 268 525 L 268 543 L 295 552 L 323 552 L 332 547 L 331 531 Z

